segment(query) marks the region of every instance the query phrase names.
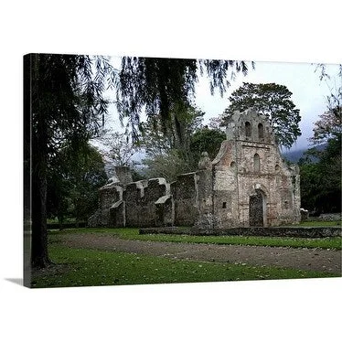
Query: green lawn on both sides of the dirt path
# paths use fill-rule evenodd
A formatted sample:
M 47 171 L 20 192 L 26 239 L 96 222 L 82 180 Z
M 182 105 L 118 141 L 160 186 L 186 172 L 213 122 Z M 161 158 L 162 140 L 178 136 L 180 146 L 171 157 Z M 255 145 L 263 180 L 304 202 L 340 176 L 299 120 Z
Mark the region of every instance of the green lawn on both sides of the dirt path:
M 137 229 L 75 229 L 48 232 L 48 252 L 56 264 L 34 273 L 32 287 L 91 286 L 149 283 L 199 283 L 259 279 L 298 279 L 338 276 L 245 263 L 194 262 L 116 251 L 63 246 L 63 234 L 114 234 L 128 240 L 217 243 L 341 249 L 341 238 L 298 239 L 241 236 L 139 235 Z

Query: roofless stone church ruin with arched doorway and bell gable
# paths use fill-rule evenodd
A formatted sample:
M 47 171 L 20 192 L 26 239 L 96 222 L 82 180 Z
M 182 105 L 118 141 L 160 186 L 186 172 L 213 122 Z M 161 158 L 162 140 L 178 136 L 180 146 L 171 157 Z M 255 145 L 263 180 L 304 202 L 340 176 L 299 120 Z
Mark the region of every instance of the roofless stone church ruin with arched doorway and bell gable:
M 267 118 L 235 112 L 219 153 L 198 170 L 132 182 L 128 167 L 102 187 L 91 227 L 272 227 L 300 221 L 299 168 L 283 162 Z

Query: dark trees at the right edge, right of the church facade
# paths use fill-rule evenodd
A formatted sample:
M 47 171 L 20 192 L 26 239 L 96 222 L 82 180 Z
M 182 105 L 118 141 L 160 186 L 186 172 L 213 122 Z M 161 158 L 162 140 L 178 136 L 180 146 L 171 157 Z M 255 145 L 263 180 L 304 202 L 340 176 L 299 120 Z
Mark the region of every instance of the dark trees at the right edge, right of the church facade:
M 331 80 L 321 64 L 320 80 Z M 315 122 L 310 139 L 315 147 L 300 160 L 302 204 L 320 212 L 341 211 L 341 144 L 342 144 L 342 65 L 337 75 L 339 86 L 330 87 L 327 111 Z M 324 149 L 318 147 L 325 146 Z

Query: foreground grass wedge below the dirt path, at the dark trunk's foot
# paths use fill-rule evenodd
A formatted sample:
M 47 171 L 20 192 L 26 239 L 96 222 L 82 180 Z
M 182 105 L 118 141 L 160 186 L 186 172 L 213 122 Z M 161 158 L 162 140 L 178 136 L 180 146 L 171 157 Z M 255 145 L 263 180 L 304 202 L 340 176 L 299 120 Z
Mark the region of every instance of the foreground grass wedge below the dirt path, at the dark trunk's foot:
M 192 262 L 134 253 L 72 249 L 58 240 L 49 245 L 57 263 L 35 272 L 32 287 L 65 287 L 152 283 L 226 282 L 259 279 L 298 279 L 338 276 L 245 263 Z

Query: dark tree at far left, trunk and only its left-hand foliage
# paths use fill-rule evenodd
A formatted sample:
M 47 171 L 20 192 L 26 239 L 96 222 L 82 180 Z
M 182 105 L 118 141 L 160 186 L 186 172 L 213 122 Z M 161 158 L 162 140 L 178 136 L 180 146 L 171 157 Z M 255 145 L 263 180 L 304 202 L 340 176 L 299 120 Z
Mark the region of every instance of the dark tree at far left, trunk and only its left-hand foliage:
M 77 155 L 91 136 L 98 133 L 108 104 L 102 92 L 111 71 L 103 58 L 53 54 L 24 57 L 25 207 L 31 204 L 32 208 L 31 264 L 34 267 L 44 267 L 50 262 L 48 165 L 64 144 L 68 143 Z

